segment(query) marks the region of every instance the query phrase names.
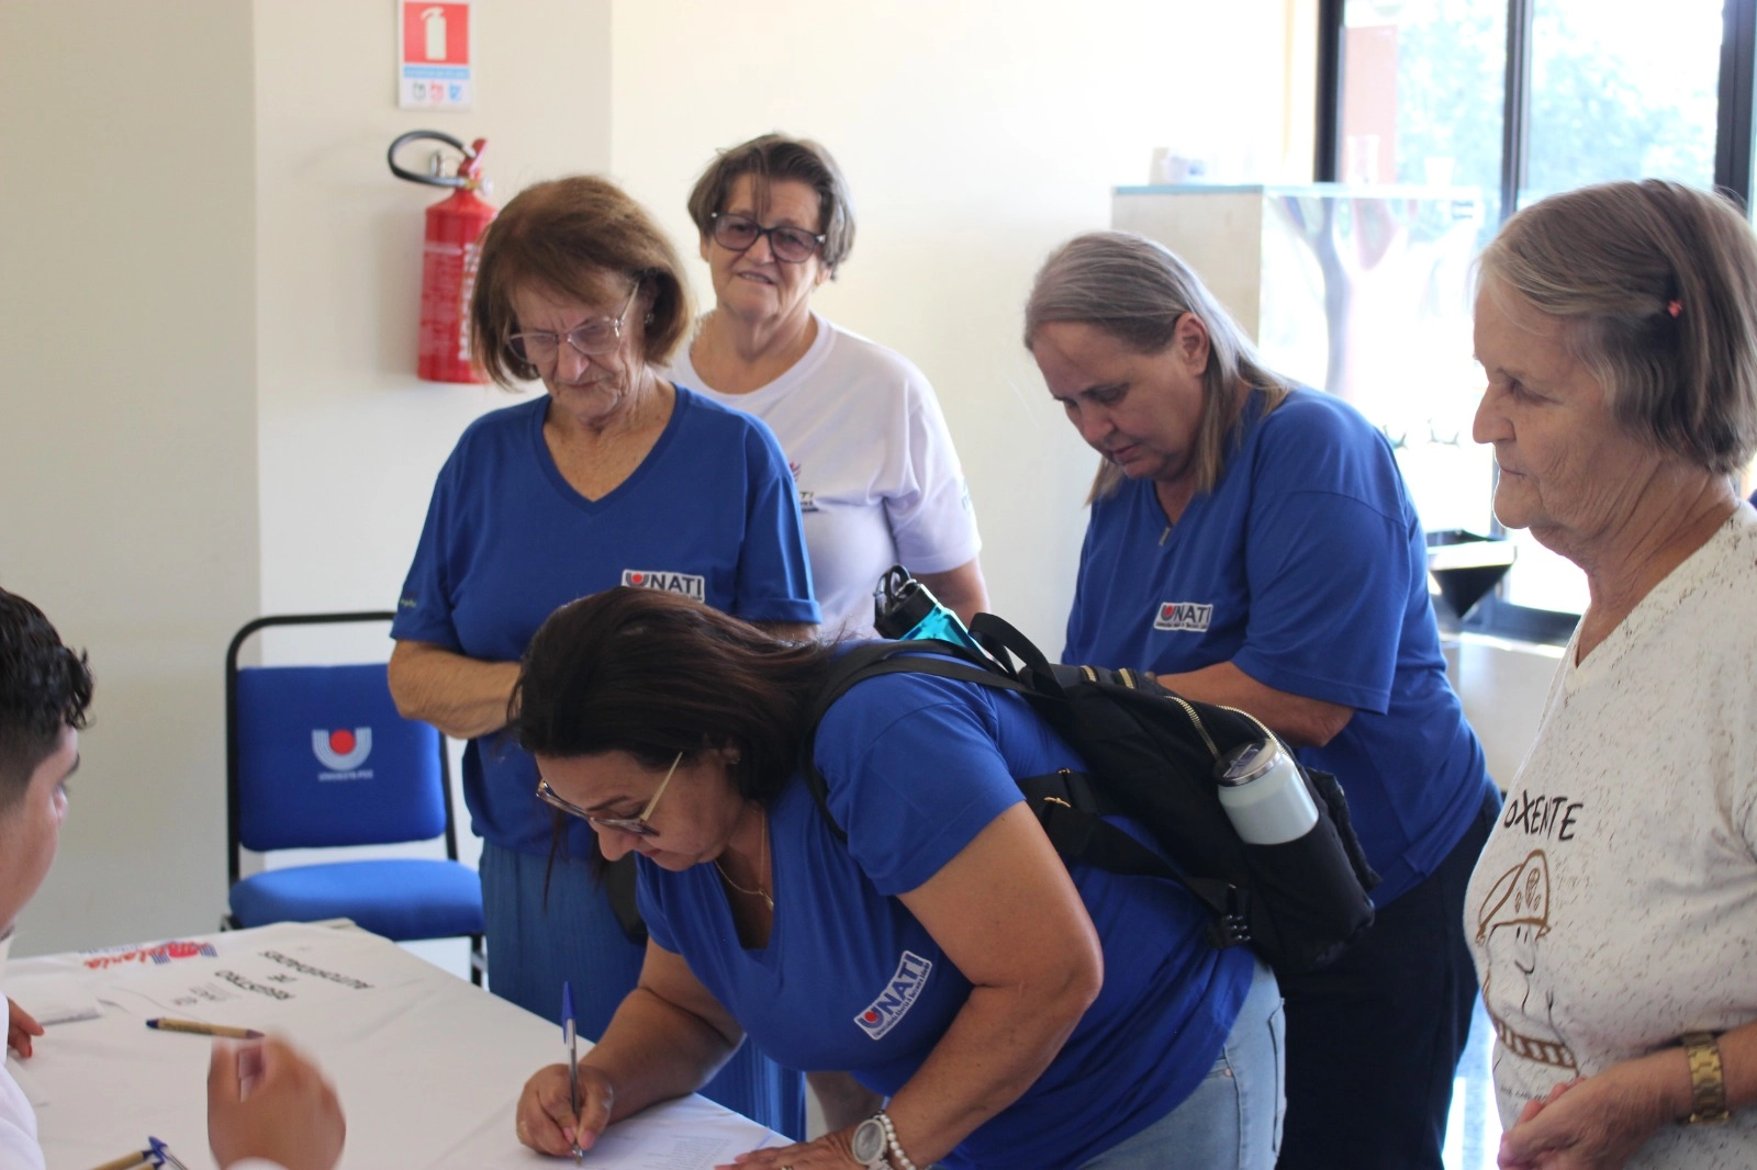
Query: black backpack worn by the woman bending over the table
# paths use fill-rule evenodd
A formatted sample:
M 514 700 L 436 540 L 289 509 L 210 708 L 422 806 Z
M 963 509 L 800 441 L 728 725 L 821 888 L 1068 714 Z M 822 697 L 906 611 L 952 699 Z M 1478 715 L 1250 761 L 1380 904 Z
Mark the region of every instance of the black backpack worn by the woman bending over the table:
M 1017 780 L 1063 861 L 1182 882 L 1214 914 L 1209 942 L 1249 943 L 1286 975 L 1330 963 L 1372 926 L 1367 891 L 1379 877 L 1355 838 L 1348 801 L 1332 775 L 1300 766 L 1318 824 L 1298 840 L 1249 845 L 1226 817 L 1214 762 L 1240 743 L 1272 736 L 1256 719 L 1184 699 L 1133 671 L 1051 664 L 993 613 L 977 615 L 970 632 L 993 661 L 935 639 L 859 645 L 836 661 L 812 711 L 799 771 L 840 836 L 847 834 L 829 815 L 812 752 L 819 720 L 866 678 L 936 675 L 1023 694 L 1086 759 L 1091 773 L 1061 769 Z M 1012 657 L 1021 666 L 1014 668 Z M 1107 813 L 1144 824 L 1172 864 L 1105 822 Z

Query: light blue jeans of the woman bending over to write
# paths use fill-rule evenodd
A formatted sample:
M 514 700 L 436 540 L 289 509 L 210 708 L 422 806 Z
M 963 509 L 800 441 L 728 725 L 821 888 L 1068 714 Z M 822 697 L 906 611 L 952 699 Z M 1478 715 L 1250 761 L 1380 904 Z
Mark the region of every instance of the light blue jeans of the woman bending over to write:
M 1081 1170 L 1270 1170 L 1286 1109 L 1284 1038 L 1281 989 L 1258 959 L 1239 1019 L 1195 1093 Z

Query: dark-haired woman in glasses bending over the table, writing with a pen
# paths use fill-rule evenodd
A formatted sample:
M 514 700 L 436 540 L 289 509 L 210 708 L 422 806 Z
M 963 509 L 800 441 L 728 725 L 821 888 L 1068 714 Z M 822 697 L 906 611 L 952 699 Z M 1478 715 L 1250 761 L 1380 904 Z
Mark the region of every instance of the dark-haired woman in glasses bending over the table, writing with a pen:
M 636 589 L 538 631 L 518 740 L 545 799 L 606 857 L 640 856 L 652 936 L 582 1061 L 582 1109 L 568 1066 L 543 1068 L 518 1140 L 592 1147 L 748 1038 L 886 1098 L 748 1170 L 1269 1170 L 1269 970 L 1209 945 L 1177 882 L 1063 864 L 1014 776 L 1082 764 L 1016 694 L 914 673 L 850 687 L 812 740 L 831 824 L 796 766 L 835 657 Z

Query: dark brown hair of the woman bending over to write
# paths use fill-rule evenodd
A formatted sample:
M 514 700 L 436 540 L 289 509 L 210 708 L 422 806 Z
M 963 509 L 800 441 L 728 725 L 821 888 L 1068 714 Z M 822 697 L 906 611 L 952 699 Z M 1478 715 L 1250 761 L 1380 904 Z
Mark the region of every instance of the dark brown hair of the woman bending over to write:
M 770 801 L 798 762 L 812 703 L 835 657 L 719 610 L 617 587 L 552 613 L 525 648 L 513 729 L 534 755 L 627 752 L 666 768 L 736 748 L 740 794 Z

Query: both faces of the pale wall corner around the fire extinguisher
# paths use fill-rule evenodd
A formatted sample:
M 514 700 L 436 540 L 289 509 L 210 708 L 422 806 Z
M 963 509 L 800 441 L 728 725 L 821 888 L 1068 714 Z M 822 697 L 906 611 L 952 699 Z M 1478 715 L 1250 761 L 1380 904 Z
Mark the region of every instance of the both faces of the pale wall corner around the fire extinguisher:
M 18 954 L 213 929 L 227 639 L 265 611 L 390 608 L 439 462 L 510 401 L 413 378 L 443 191 L 383 153 L 416 126 L 483 135 L 503 202 L 603 169 L 610 7 L 476 11 L 476 111 L 416 114 L 390 4 L 0 5 L 0 583 L 98 675 Z

